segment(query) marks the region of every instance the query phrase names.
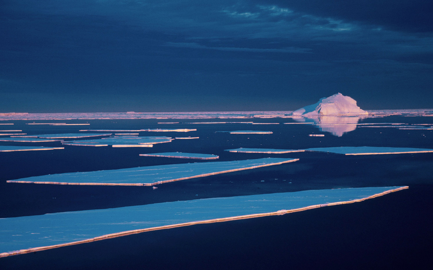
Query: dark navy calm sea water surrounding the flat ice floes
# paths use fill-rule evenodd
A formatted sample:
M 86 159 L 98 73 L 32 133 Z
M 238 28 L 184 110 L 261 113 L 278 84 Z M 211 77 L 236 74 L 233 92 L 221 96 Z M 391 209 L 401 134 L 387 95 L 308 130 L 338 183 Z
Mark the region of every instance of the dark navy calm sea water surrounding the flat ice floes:
M 330 146 L 390 146 L 433 149 L 432 130 L 357 128 L 342 137 L 308 137 L 319 132 L 303 124 L 157 124 L 194 119 L 64 120 L 89 126 L 26 125 L 2 129 L 28 134 L 72 133 L 80 129 L 197 128 L 188 133 L 141 132 L 141 136 L 200 137 L 153 148 L 65 146 L 64 150 L 0 153 L 0 217 L 113 208 L 176 200 L 228 197 L 341 187 L 408 185 L 409 189 L 361 203 L 330 206 L 283 216 L 145 232 L 93 243 L 0 258 L 0 269 L 431 269 L 433 251 L 433 154 L 342 156 L 326 153 L 229 153 L 238 147 L 303 149 Z M 221 121 L 221 119 L 204 121 Z M 227 121 L 290 122 L 290 119 Z M 432 117 L 365 119 L 370 123 L 425 124 Z M 44 121 L 38 121 L 44 122 Z M 45 121 L 55 122 L 55 121 Z M 6 127 L 6 128 L 3 128 Z M 13 127 L 13 128 L 12 128 Z M 235 135 L 227 130 L 270 130 Z M 1 145 L 61 146 L 61 143 Z M 193 178 L 152 187 L 13 184 L 6 180 L 63 172 L 187 162 L 142 157 L 140 153 L 192 152 L 218 161 L 262 157 L 300 161 Z M 264 181 L 264 182 L 261 182 Z M 0 228 L 3 229 L 3 228 Z

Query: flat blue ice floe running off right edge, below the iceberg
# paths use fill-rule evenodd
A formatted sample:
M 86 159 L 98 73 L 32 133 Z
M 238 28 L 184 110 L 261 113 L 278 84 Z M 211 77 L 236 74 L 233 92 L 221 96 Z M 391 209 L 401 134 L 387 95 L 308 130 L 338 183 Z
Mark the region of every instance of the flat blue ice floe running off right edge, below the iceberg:
M 373 147 L 373 146 L 342 146 L 342 147 L 322 147 L 308 148 L 305 151 L 329 152 L 343 155 L 381 155 L 381 154 L 404 154 L 404 153 L 428 153 L 433 149 L 425 148 L 406 148 L 406 147 Z

